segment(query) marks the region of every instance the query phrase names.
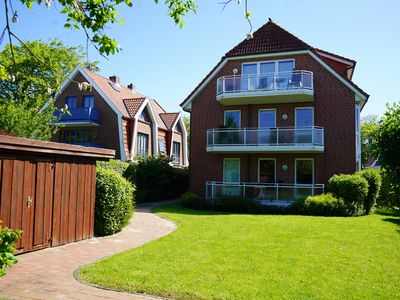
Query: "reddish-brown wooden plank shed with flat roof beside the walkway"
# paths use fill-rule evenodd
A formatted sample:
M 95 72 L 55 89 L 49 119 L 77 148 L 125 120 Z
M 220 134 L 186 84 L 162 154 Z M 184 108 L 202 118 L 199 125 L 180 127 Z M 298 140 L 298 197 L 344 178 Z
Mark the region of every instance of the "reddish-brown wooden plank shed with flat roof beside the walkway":
M 0 220 L 23 231 L 19 253 L 93 236 L 96 159 L 113 156 L 0 135 Z

